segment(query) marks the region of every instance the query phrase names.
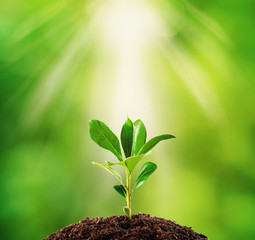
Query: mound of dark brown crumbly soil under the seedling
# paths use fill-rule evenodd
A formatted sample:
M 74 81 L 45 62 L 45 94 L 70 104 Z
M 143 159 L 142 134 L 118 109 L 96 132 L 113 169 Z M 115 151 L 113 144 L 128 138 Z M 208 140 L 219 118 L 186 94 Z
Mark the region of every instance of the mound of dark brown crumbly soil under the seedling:
M 85 218 L 51 234 L 44 240 L 206 240 L 206 236 L 194 232 L 191 227 L 181 226 L 164 218 L 148 214 Z

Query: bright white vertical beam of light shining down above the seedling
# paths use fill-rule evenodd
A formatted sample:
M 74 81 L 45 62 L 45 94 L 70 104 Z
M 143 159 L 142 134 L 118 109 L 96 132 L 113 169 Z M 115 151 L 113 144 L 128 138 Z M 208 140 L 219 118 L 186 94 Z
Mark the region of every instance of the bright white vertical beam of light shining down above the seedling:
M 93 21 L 98 26 L 103 51 L 107 51 L 113 64 L 111 119 L 119 124 L 128 114 L 134 119 L 153 120 L 144 63 L 145 53 L 164 29 L 157 12 L 145 1 L 112 0 L 98 10 Z

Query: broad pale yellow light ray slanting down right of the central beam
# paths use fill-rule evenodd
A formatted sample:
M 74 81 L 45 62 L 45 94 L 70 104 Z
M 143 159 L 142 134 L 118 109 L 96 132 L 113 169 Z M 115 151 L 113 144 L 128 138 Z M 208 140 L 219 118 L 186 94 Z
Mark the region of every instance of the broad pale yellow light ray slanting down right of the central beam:
M 220 103 L 214 86 L 210 84 L 210 77 L 195 64 L 187 52 L 183 53 L 170 42 L 161 48 L 161 52 L 174 68 L 185 86 L 190 90 L 197 103 L 207 117 L 216 123 L 226 122 L 227 116 Z

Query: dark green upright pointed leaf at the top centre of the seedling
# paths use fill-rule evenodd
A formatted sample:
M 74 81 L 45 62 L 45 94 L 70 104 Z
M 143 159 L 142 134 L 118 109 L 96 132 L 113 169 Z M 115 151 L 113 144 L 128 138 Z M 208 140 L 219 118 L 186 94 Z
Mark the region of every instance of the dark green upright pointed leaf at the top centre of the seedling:
M 133 123 L 127 117 L 121 130 L 121 144 L 126 157 L 130 157 L 131 155 L 132 143 L 133 143 Z

